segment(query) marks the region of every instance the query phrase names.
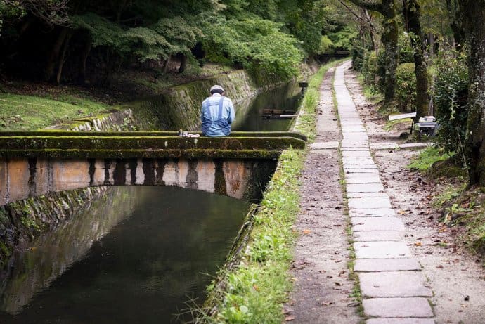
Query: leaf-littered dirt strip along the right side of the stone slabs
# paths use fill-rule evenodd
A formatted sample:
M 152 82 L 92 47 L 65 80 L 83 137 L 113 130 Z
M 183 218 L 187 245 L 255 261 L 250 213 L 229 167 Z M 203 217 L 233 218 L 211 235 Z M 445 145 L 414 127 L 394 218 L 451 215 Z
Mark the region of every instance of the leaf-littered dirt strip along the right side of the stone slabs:
M 365 121 L 370 144 L 398 141 L 401 131 L 383 131 L 384 122 L 366 102 L 356 74 L 346 70 L 346 82 Z M 374 150 L 374 160 L 392 207 L 406 225 L 406 242 L 422 266 L 434 292 L 437 323 L 485 323 L 485 271 L 481 261 L 455 244 L 455 228 L 439 226 L 441 215 L 431 206 L 438 183 L 406 169 L 418 151 Z

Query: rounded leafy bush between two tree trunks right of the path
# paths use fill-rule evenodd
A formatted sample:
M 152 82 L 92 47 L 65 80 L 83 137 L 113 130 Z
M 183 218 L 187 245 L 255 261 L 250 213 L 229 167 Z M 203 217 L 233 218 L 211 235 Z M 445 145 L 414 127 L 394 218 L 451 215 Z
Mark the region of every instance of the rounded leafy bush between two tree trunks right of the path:
M 403 63 L 396 68 L 396 103 L 400 112 L 416 111 L 416 76 L 414 63 Z

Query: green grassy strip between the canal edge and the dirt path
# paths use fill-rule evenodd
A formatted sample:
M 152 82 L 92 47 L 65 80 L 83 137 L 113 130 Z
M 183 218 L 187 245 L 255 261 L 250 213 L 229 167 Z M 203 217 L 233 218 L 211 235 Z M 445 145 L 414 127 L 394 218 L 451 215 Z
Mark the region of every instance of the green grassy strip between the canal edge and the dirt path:
M 321 67 L 311 78 L 302 101 L 295 130 L 310 141 L 316 136 L 318 88 L 325 72 L 335 64 Z M 288 270 L 297 238 L 292 226 L 299 212 L 299 176 L 305 156 L 304 150 L 285 150 L 280 156 L 261 208 L 254 215 L 254 226 L 238 266 L 232 271 L 221 271 L 209 287 L 209 295 L 216 296 L 216 314 L 212 317 L 202 314 L 201 321 L 281 323 L 284 320 L 283 303 L 292 288 Z

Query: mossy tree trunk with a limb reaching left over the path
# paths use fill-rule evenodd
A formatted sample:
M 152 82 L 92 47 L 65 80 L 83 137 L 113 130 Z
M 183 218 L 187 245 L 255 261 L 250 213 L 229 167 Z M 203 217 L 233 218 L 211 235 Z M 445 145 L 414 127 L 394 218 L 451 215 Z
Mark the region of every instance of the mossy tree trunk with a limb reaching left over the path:
M 394 0 L 366 1 L 350 0 L 352 3 L 366 8 L 370 11 L 376 11 L 382 15 L 381 41 L 384 45 L 384 105 L 390 105 L 394 102 L 396 94 L 396 67 L 399 60 L 398 52 L 398 25 L 396 18 L 396 4 Z

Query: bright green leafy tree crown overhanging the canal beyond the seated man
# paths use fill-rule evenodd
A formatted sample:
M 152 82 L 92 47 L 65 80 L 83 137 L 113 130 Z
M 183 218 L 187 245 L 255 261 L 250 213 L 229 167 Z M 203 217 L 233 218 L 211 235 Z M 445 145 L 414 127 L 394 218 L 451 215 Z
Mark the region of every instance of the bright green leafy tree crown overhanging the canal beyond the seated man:
M 204 41 L 208 58 L 233 63 L 255 74 L 265 72 L 281 79 L 298 73 L 302 53 L 296 39 L 280 32 L 276 22 L 257 17 L 219 20 L 208 24 Z

